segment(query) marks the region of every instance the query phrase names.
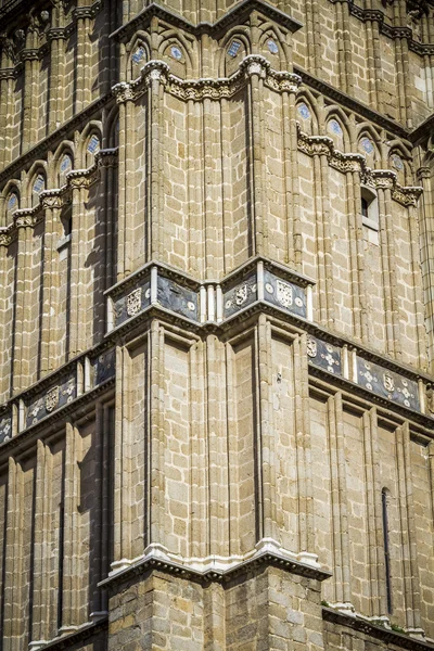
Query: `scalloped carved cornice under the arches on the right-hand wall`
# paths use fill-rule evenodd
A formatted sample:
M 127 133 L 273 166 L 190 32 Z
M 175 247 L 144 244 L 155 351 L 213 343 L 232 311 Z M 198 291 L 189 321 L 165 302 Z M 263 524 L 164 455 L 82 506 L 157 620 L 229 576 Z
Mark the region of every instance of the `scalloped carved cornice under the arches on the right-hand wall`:
M 392 191 L 392 199 L 404 206 L 416 206 L 423 188 L 403 187 L 392 169 L 371 169 L 362 154 L 345 154 L 335 149 L 333 140 L 328 136 L 308 136 L 298 126 L 298 149 L 309 156 L 326 155 L 331 167 L 346 173 L 359 173 L 366 184 L 372 188 L 386 188 Z

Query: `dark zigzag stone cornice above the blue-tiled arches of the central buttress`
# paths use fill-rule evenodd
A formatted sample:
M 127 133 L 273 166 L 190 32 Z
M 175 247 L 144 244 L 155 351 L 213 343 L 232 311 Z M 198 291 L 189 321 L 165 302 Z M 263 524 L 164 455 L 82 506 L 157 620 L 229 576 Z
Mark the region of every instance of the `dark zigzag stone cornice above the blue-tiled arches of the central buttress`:
M 129 40 L 132 34 L 137 31 L 137 29 L 143 29 L 149 26 L 153 17 L 158 17 L 163 21 L 166 21 L 173 26 L 183 29 L 184 31 L 195 36 L 208 34 L 218 37 L 220 34 L 226 33 L 231 25 L 242 23 L 253 11 L 260 12 L 266 17 L 275 21 L 281 27 L 285 27 L 292 33 L 297 31 L 303 27 L 301 23 L 292 18 L 289 14 L 276 9 L 275 7 L 271 7 L 267 2 L 263 2 L 261 0 L 244 0 L 244 2 L 237 4 L 215 23 L 204 22 L 197 23 L 196 25 L 190 23 L 176 12 L 169 11 L 153 2 L 126 25 L 123 25 L 116 29 L 116 31 L 113 31 L 113 34 L 111 34 L 111 38 L 119 42 L 126 42 Z

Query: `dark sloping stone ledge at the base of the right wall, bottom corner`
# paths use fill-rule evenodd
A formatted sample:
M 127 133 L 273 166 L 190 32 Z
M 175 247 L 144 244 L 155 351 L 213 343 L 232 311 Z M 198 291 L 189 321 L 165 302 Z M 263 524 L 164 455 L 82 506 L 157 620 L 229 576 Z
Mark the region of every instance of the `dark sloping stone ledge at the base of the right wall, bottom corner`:
M 387 644 L 394 644 L 399 649 L 409 649 L 409 651 L 434 650 L 434 644 L 414 639 L 408 635 L 396 633 L 395 630 L 391 630 L 384 626 L 379 626 L 378 624 L 368 622 L 362 617 L 345 615 L 344 613 L 331 608 L 322 608 L 322 618 L 326 622 L 331 622 L 332 624 L 339 624 L 341 626 L 345 626 L 346 628 L 365 633 L 370 637 L 382 640 Z

